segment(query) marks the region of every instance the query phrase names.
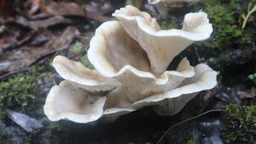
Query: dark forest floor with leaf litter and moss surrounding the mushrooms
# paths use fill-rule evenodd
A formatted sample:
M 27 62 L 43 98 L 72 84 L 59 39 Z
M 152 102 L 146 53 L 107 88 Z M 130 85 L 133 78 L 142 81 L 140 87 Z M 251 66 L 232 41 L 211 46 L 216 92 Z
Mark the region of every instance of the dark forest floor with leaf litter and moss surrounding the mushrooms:
M 218 85 L 169 117 L 145 107 L 115 122 L 50 122 L 42 107 L 50 88 L 62 81 L 51 66 L 54 56 L 93 69 L 86 56 L 90 38 L 127 4 L 157 18 L 162 29 L 179 29 L 185 14 L 206 12 L 213 34 L 194 42 L 171 65 L 185 56 L 192 66 L 206 63 L 218 71 Z M 166 14 L 158 14 L 146 0 L 2 0 L 0 143 L 256 142 L 256 2 L 202 0 L 166 7 Z

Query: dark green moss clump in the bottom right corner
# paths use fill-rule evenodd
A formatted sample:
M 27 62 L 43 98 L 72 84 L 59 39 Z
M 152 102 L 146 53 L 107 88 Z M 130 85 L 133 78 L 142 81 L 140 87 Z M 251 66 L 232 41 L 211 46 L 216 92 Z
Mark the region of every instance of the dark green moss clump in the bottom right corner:
M 231 142 L 256 142 L 256 106 L 226 106 L 227 116 L 224 120 L 224 138 Z

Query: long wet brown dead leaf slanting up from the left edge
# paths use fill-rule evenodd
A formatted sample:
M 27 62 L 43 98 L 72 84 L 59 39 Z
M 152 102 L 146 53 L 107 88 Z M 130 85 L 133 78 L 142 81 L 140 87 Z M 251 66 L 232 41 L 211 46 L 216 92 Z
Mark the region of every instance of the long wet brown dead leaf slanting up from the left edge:
M 74 26 L 68 26 L 58 38 L 52 38 L 43 46 L 27 46 L 23 50 L 6 53 L 0 58 L 0 74 L 12 70 L 20 70 L 30 66 L 33 62 L 46 54 L 68 48 L 73 39 L 79 34 L 79 31 Z

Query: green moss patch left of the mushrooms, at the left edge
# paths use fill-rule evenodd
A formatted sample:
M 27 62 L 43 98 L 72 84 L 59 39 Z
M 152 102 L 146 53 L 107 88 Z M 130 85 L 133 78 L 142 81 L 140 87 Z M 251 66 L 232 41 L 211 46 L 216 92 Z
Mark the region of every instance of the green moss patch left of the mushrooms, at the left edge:
M 0 82 L 0 107 L 13 105 L 26 108 L 39 93 L 38 79 L 50 73 L 38 73 L 41 67 L 30 67 L 30 73 L 16 74 L 6 82 Z

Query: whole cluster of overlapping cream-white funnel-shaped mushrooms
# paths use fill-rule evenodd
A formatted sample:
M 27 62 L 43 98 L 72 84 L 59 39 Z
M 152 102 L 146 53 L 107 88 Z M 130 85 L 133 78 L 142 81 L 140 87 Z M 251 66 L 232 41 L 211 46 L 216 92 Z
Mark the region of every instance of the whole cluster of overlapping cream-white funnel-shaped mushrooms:
M 186 14 L 182 30 L 160 30 L 154 18 L 133 6 L 113 15 L 120 21 L 104 22 L 90 41 L 87 55 L 95 70 L 63 56 L 54 58 L 54 68 L 66 80 L 46 98 L 50 120 L 113 121 L 143 106 L 173 115 L 199 91 L 216 85 L 214 70 L 205 64 L 190 66 L 187 58 L 176 70 L 166 70 L 190 43 L 209 38 L 212 27 L 205 13 Z M 107 94 L 90 93 L 100 90 Z

